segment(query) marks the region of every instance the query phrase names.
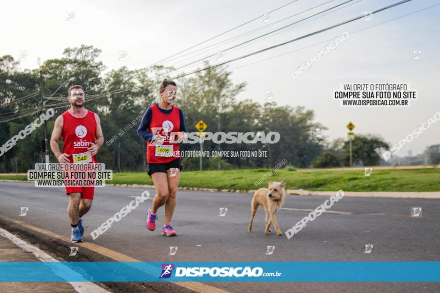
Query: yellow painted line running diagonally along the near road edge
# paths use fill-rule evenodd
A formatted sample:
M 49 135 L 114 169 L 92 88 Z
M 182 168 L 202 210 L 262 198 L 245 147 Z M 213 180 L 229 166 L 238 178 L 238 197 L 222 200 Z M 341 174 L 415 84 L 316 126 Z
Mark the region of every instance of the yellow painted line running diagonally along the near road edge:
M 18 220 L 9 218 L 9 217 L 0 216 L 0 218 L 6 222 L 14 223 L 16 225 L 20 225 L 22 227 L 25 227 L 27 229 L 36 231 L 38 233 L 47 235 L 49 237 L 53 237 L 53 238 L 62 240 L 66 243 L 70 243 L 70 238 L 68 238 L 68 237 L 64 237 L 64 236 L 55 234 L 53 232 L 41 229 L 39 227 L 29 225 L 27 223 L 24 223 L 24 222 L 21 222 L 21 221 L 18 221 Z M 108 249 L 108 248 L 105 248 L 105 247 L 102 247 L 102 246 L 99 246 L 99 245 L 96 245 L 93 243 L 82 242 L 82 243 L 75 243 L 75 245 L 78 245 L 78 246 L 84 247 L 86 249 L 89 249 L 91 251 L 94 251 L 100 255 L 103 255 L 103 256 L 110 258 L 112 260 L 115 260 L 117 262 L 140 262 L 139 260 L 130 258 L 129 256 L 123 255 L 123 254 L 118 253 L 114 250 L 111 250 L 111 249 Z M 192 291 L 195 291 L 195 292 L 200 292 L 200 293 L 205 293 L 205 292 L 206 293 L 211 293 L 211 292 L 212 293 L 228 293 L 227 291 L 224 291 L 224 290 L 221 290 L 221 289 L 218 289 L 218 288 L 215 288 L 215 287 L 212 287 L 212 286 L 200 283 L 200 282 L 170 282 L 170 283 L 175 284 L 180 287 L 183 287 L 183 288 L 186 288 L 186 289 L 189 289 L 189 290 L 192 290 Z

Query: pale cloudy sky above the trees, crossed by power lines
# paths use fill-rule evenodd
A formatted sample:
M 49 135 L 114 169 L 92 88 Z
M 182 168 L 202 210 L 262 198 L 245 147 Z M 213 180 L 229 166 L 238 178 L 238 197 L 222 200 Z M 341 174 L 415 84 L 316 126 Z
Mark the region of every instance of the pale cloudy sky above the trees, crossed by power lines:
M 263 22 L 261 16 L 185 53 L 248 33 L 240 38 L 162 64 L 178 67 L 217 51 L 224 51 L 223 60 L 230 60 L 397 2 L 352 0 L 319 17 L 299 21 L 345 1 L 294 1 L 271 12 L 267 22 Z M 38 66 L 37 57 L 41 60 L 59 58 L 64 48 L 86 44 L 102 50 L 99 59 L 107 70 L 121 66 L 143 68 L 289 2 L 291 0 L 7 1 L 2 3 L 0 18 L 3 28 L 0 55 L 18 58 L 19 52 L 25 51 L 27 56 L 20 67 L 32 69 Z M 412 13 L 438 3 L 440 0 L 412 0 L 374 13 L 369 20 L 359 19 L 230 62 L 228 70 L 232 72 L 232 81 L 247 83 L 237 99 L 264 103 L 266 92 L 273 91 L 270 101 L 278 105 L 312 109 L 314 120 L 326 128 L 324 137 L 328 141 L 346 137 L 345 126 L 351 121 L 355 134 L 376 134 L 394 145 L 440 111 L 436 89 L 440 65 L 437 49 L 440 5 Z M 323 5 L 302 12 L 320 4 Z M 274 23 L 293 14 L 297 15 Z M 296 21 L 299 22 L 266 37 L 225 50 Z M 250 32 L 252 30 L 255 31 Z M 343 31 L 349 32 L 346 41 L 298 78 L 291 78 L 293 70 Z M 420 51 L 415 59 L 414 50 Z M 119 52 L 126 52 L 126 57 L 121 60 Z M 208 59 L 211 64 L 219 62 L 215 57 Z M 196 64 L 183 70 L 189 72 L 200 66 Z M 176 74 L 179 72 L 181 70 Z M 409 107 L 341 107 L 332 98 L 341 83 L 407 83 L 417 91 L 418 98 L 412 100 Z M 419 154 L 427 146 L 440 143 L 439 134 L 440 122 L 405 144 L 397 155 Z

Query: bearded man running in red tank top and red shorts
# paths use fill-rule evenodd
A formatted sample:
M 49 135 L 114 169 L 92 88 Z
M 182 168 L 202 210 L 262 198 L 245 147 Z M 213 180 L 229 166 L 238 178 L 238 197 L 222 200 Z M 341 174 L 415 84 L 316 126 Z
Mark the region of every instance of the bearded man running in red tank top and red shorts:
M 56 118 L 50 137 L 50 148 L 61 164 L 95 164 L 96 153 L 104 143 L 99 117 L 84 108 L 84 91 L 80 85 L 73 85 L 68 89 L 67 99 L 70 108 Z M 64 143 L 62 152 L 59 151 L 60 137 Z M 75 158 L 80 158 L 80 162 Z M 69 198 L 67 214 L 72 228 L 71 241 L 82 242 L 82 216 L 90 210 L 94 186 L 66 186 L 65 193 Z

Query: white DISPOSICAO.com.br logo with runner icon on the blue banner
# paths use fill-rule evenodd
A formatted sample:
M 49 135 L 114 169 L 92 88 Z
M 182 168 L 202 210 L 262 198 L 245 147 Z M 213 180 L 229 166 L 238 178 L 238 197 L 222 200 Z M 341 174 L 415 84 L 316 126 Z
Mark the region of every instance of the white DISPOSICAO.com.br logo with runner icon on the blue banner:
M 173 264 L 162 264 L 159 279 L 171 277 L 279 277 L 282 273 L 264 273 L 260 267 L 174 267 Z

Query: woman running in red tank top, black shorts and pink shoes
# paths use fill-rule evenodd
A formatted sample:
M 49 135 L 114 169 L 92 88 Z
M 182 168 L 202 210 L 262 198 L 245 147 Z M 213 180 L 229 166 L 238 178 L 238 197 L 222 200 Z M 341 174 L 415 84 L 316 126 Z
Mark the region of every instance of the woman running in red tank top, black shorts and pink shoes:
M 176 93 L 176 83 L 164 79 L 159 88 L 159 102 L 146 109 L 137 128 L 137 135 L 147 141 L 148 175 L 156 189 L 152 206 L 147 212 L 146 228 L 154 231 L 157 210 L 165 205 L 162 226 L 162 234 L 165 236 L 176 235 L 169 225 L 182 170 L 178 144 L 175 141 L 177 137 L 182 140 L 186 140 L 187 137 L 182 110 L 172 105 Z

